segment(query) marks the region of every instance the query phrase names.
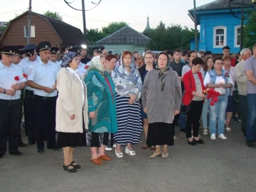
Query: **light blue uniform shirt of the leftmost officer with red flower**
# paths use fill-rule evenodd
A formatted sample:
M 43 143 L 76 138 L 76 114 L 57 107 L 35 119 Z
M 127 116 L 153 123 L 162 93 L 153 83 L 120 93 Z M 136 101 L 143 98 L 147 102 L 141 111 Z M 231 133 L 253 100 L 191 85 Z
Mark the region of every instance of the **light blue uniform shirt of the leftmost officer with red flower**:
M 19 65 L 15 65 L 12 63 L 10 67 L 5 67 L 0 61 L 0 87 L 4 88 L 6 90 L 12 89 L 12 85 L 16 83 L 22 83 L 25 82 L 26 79 L 22 76 L 22 70 Z M 20 80 L 17 82 L 15 81 L 14 77 L 18 76 Z M 15 95 L 7 95 L 4 93 L 0 93 L 0 99 L 4 100 L 14 100 L 14 99 L 20 99 L 20 90 L 17 90 Z

